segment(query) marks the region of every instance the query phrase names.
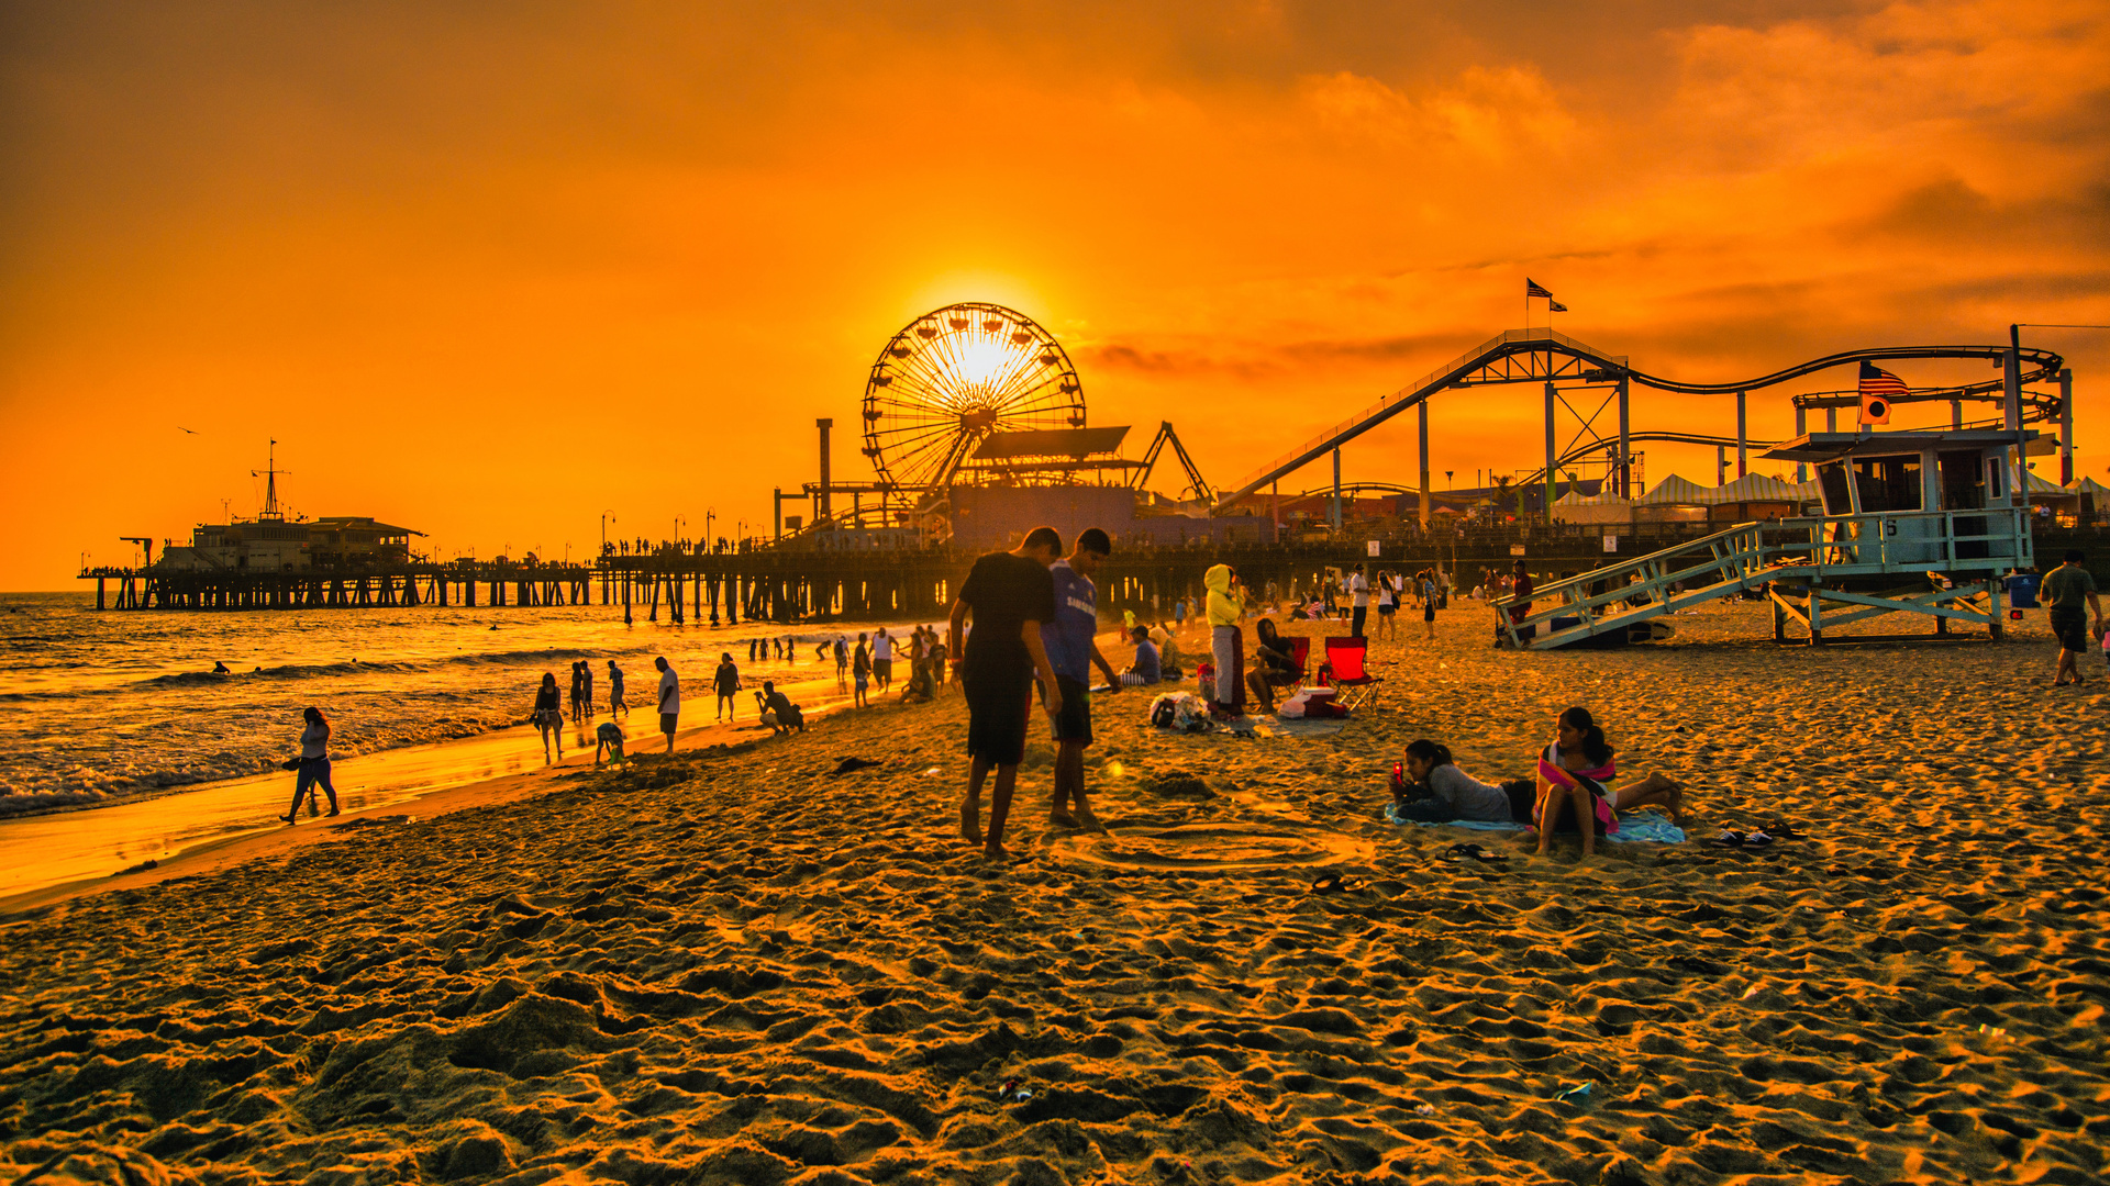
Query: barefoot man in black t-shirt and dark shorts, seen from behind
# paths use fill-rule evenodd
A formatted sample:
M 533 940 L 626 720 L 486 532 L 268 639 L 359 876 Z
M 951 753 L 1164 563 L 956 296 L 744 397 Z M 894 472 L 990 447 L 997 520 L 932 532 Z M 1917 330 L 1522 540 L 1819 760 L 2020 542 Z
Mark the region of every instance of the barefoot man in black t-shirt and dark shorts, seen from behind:
M 975 561 L 952 604 L 947 650 L 966 692 L 966 800 L 960 804 L 960 836 L 981 842 L 981 781 L 996 766 L 990 798 L 990 857 L 1004 855 L 1004 817 L 1025 755 L 1025 720 L 1034 705 L 1034 677 L 1049 715 L 1061 711 L 1061 688 L 1040 644 L 1042 623 L 1055 620 L 1055 578 L 1049 566 L 1061 555 L 1055 528 L 1034 528 L 1013 551 L 994 551 Z M 975 629 L 960 648 L 960 629 L 973 610 Z

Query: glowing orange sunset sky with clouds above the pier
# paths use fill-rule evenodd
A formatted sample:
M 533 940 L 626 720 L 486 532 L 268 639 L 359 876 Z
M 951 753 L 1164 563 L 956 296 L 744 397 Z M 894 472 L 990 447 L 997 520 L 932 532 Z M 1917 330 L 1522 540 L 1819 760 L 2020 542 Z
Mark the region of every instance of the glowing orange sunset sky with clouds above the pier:
M 0 589 L 253 513 L 266 437 L 295 511 L 449 557 L 753 528 L 954 300 L 1222 483 L 1519 325 L 1526 274 L 1692 380 L 2110 323 L 2099 2 L 439 8 L 6 6 Z M 2026 342 L 2110 479 L 2110 333 Z M 1433 428 L 1439 483 L 1542 447 L 1530 386 Z M 1412 416 L 1346 456 L 1412 471 Z

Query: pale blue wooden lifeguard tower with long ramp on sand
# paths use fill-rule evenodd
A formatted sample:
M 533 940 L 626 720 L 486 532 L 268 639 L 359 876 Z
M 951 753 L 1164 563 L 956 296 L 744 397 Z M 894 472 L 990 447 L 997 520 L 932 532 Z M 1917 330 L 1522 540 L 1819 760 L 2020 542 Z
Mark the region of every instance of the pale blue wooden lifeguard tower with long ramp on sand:
M 2030 431 L 1810 433 L 1766 458 L 1817 466 L 1823 515 L 1739 523 L 1673 549 L 1532 589 L 1528 612 L 1496 597 L 1509 646 L 1553 650 L 1616 635 L 1749 589 L 1772 601 L 1772 637 L 1823 644 L 1827 627 L 1907 612 L 1983 625 L 2000 637 L 2000 576 L 2034 563 L 2030 504 L 2017 487 Z M 1838 585 L 1893 589 L 1850 593 Z M 1857 635 L 1865 637 L 1865 635 Z M 1914 635 L 1924 637 L 1924 635 Z

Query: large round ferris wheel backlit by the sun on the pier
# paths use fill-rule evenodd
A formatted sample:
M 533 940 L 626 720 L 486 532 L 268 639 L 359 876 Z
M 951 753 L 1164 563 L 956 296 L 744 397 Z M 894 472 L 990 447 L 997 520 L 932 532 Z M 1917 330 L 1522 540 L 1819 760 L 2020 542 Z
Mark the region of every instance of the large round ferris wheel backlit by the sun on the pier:
M 1085 384 L 1055 336 L 1000 304 L 907 323 L 865 382 L 865 456 L 882 483 L 952 481 L 990 433 L 1082 428 Z

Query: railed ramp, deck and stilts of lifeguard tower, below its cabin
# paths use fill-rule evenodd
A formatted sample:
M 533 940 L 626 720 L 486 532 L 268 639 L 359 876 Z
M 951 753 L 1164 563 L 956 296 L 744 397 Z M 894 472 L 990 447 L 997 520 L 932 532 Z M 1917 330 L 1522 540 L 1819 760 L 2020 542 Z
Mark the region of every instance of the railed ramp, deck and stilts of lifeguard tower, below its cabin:
M 1825 625 L 1846 625 L 1888 612 L 1931 614 L 1986 625 L 2000 637 L 2000 580 L 2036 559 L 2023 506 L 1969 511 L 1897 511 L 1739 523 L 1682 542 L 1538 585 L 1530 612 L 1515 618 L 1517 597 L 1492 601 L 1496 625 L 1521 650 L 1553 650 L 1639 627 L 1677 610 L 1766 589 L 1775 606 L 1775 637 L 1789 620 L 1823 642 Z M 1920 576 L 1914 591 L 1893 595 L 1825 589 L 1844 576 Z M 1825 612 L 1825 604 L 1848 606 Z

